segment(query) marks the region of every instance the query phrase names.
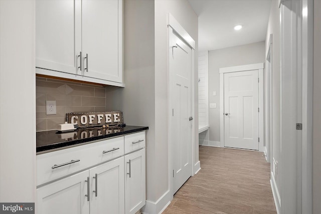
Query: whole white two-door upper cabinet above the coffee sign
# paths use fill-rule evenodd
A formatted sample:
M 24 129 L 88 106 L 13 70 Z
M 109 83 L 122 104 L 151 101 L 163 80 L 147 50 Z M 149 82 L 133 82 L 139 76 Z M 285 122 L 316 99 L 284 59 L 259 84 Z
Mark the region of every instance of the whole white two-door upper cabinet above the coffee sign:
M 36 73 L 123 86 L 122 0 L 36 1 Z

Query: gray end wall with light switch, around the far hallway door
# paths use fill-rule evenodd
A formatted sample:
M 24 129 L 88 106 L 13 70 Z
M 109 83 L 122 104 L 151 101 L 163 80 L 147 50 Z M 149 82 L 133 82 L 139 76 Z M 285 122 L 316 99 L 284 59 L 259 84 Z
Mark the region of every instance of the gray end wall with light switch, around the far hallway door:
M 217 108 L 209 109 L 210 141 L 220 142 L 220 74 L 219 69 L 265 62 L 265 43 L 209 51 L 209 103 Z M 216 91 L 216 96 L 213 96 Z M 217 144 L 217 143 L 214 143 Z

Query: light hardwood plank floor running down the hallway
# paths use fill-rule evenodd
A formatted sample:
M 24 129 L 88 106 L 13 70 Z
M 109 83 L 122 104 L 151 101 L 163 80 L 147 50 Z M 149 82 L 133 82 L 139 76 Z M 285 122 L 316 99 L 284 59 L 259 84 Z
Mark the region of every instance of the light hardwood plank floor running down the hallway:
M 201 170 L 163 212 L 276 213 L 270 165 L 262 152 L 200 146 Z

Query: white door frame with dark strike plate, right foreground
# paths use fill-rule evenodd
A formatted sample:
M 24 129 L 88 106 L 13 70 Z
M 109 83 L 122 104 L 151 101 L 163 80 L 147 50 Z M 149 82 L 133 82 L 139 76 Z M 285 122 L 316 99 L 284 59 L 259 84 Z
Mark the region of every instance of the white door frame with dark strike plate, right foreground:
M 313 1 L 281 2 L 280 39 L 281 201 L 276 205 L 280 213 L 312 213 Z M 302 130 L 295 123 L 302 123 Z

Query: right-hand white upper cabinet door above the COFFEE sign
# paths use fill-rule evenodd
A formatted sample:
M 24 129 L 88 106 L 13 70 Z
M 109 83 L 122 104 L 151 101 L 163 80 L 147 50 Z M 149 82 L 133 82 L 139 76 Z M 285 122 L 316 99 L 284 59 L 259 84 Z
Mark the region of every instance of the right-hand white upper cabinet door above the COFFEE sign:
M 82 1 L 82 50 L 84 76 L 122 82 L 121 0 Z

